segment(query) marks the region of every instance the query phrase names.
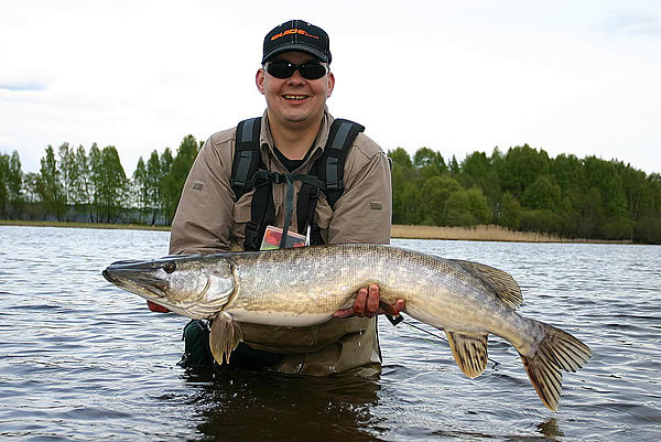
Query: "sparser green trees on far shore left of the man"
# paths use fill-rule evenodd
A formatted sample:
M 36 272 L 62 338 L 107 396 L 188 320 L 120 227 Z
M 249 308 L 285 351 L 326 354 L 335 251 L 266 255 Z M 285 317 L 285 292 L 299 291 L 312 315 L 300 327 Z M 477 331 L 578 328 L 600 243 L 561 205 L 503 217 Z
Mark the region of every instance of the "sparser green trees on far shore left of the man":
M 170 224 L 202 144 L 184 137 L 140 157 L 128 177 L 113 145 L 48 145 L 37 173 L 23 173 L 18 152 L 0 154 L 0 217 L 61 222 Z

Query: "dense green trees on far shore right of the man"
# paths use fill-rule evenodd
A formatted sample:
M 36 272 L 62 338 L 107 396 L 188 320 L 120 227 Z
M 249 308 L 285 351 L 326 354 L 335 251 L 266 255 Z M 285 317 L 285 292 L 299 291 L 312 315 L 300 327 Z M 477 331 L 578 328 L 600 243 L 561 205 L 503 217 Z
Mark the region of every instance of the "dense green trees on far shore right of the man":
M 460 163 L 398 148 L 392 160 L 393 223 L 496 224 L 565 238 L 661 244 L 661 175 L 594 155 L 550 158 L 528 144 L 474 152 Z

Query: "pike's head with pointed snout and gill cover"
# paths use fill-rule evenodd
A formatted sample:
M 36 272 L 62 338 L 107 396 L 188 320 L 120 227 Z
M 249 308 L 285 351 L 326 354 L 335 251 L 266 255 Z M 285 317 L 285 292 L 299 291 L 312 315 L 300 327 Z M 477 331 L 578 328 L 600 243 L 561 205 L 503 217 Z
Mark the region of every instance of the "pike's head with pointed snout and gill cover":
M 115 285 L 193 319 L 223 310 L 235 291 L 229 259 L 172 256 L 151 261 L 117 261 L 104 270 Z

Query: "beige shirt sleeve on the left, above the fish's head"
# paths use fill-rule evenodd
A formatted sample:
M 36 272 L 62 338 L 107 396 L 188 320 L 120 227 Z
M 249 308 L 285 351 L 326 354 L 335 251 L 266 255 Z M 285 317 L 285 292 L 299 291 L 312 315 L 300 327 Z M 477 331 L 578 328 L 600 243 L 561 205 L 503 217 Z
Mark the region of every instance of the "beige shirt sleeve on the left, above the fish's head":
M 234 145 L 202 147 L 188 173 L 170 234 L 170 254 L 213 254 L 230 247 L 234 192 L 229 184 Z

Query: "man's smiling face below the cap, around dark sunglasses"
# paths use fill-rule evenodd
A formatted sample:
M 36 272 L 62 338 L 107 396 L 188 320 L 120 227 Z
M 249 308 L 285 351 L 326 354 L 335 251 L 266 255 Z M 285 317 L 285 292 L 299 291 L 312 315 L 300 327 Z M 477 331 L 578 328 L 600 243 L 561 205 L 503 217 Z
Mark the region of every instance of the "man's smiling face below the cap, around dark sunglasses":
M 285 52 L 268 63 L 284 61 L 294 64 L 317 62 L 302 52 Z M 263 68 L 257 72 L 257 88 L 267 98 L 271 123 L 299 126 L 318 123 L 326 98 L 333 93 L 335 77 L 332 73 L 318 79 L 305 79 L 299 71 L 289 78 L 275 78 Z

